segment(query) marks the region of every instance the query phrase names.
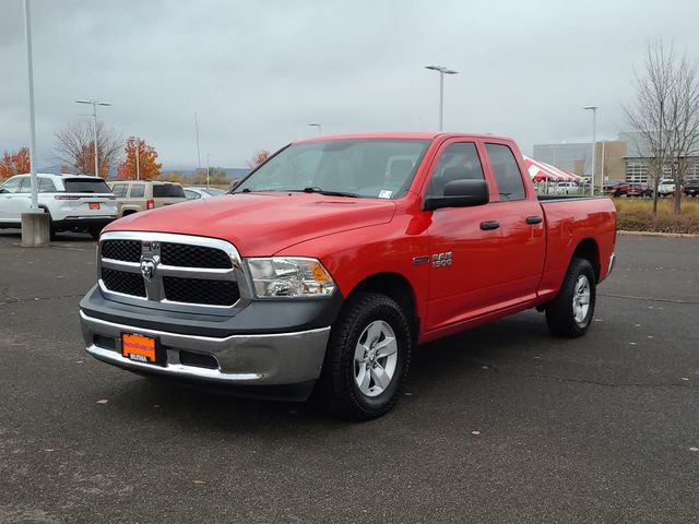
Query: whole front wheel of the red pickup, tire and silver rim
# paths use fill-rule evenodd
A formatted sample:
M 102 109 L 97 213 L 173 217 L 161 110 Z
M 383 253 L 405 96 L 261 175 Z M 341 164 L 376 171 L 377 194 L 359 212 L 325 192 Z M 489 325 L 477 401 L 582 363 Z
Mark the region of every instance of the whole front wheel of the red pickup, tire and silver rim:
M 332 329 L 317 397 L 330 414 L 342 418 L 384 415 L 405 382 L 412 345 L 408 320 L 395 300 L 357 294 Z

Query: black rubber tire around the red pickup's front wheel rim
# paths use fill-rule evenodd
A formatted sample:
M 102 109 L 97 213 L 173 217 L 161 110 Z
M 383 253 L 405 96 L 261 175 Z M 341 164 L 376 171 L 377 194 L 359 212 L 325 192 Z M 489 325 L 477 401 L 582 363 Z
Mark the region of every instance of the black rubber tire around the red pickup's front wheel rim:
M 398 350 L 388 386 L 370 396 L 359 389 L 355 380 L 358 369 L 355 368 L 355 348 L 365 330 L 377 321 L 386 322 L 393 331 Z M 316 384 L 316 398 L 330 415 L 345 419 L 369 420 L 384 415 L 403 389 L 412 348 L 410 322 L 395 300 L 376 293 L 359 293 L 351 297 L 332 327 L 323 369 Z

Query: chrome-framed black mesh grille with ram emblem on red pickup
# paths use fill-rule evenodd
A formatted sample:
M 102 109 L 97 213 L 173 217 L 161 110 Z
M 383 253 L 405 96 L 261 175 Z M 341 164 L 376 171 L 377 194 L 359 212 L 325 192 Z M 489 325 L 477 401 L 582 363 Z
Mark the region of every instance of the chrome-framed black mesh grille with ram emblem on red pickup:
M 178 310 L 233 308 L 249 298 L 240 255 L 224 240 L 157 233 L 106 233 L 98 255 L 107 298 Z M 240 285 L 240 284 L 244 285 Z

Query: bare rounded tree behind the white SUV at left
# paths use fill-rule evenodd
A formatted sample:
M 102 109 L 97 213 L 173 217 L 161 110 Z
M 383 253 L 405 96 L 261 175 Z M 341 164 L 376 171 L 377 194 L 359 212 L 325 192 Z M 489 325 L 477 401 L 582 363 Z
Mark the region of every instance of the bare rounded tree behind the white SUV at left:
M 79 120 L 66 124 L 55 133 L 54 155 L 61 166 L 76 172 L 95 174 L 94 123 Z M 97 156 L 99 176 L 107 177 L 112 166 L 121 160 L 125 141 L 114 129 L 97 122 Z

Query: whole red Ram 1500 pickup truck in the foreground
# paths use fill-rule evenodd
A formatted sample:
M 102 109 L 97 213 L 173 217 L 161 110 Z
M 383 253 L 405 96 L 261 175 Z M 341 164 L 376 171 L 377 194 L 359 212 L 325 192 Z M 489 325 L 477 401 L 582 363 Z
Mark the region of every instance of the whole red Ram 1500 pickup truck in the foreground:
M 583 335 L 615 240 L 608 198 L 537 199 L 511 140 L 318 138 L 232 194 L 107 226 L 81 324 L 123 369 L 366 419 L 416 344 L 530 308 Z

